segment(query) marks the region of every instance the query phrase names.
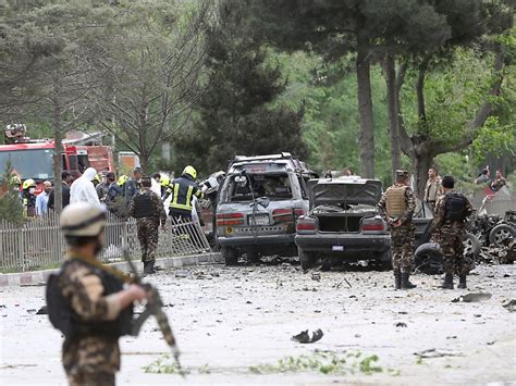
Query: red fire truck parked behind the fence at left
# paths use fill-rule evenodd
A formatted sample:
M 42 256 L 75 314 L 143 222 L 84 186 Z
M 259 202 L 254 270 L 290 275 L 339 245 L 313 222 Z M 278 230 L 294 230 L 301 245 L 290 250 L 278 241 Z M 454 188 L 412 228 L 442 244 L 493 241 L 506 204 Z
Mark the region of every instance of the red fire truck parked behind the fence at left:
M 30 139 L 25 137 L 25 125 L 9 125 L 4 132 L 5 142 L 0 145 L 0 174 L 5 171 L 11 162 L 13 173 L 22 180 L 33 178 L 36 180 L 39 194 L 42 182 L 53 183 L 53 151 L 56 142 L 51 139 Z M 98 173 L 114 171 L 113 157 L 109 146 L 78 146 L 63 141 L 61 155 L 62 170 L 67 171 L 74 178 L 88 167 L 95 167 Z

